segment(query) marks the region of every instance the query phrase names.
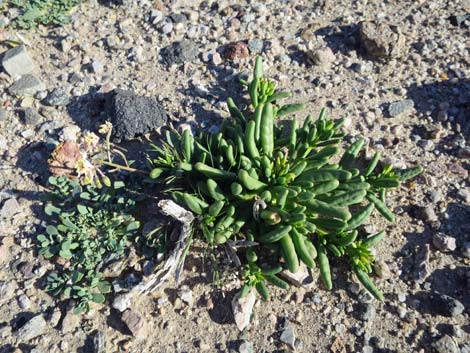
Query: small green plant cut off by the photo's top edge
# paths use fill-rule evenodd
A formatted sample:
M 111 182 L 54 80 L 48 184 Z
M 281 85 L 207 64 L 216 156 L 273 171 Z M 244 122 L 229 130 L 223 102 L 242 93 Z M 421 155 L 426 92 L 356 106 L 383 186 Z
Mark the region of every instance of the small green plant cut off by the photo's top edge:
M 9 0 L 9 7 L 20 15 L 12 22 L 15 28 L 34 28 L 38 24 L 65 25 L 71 22 L 70 11 L 83 0 Z

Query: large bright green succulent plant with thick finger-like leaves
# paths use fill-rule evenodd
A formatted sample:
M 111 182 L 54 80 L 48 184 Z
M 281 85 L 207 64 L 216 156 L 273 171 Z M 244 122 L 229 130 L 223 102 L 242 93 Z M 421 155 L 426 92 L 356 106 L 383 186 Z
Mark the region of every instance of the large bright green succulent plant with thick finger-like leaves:
M 343 151 L 343 121 L 327 119 L 325 109 L 302 125 L 292 119 L 284 132 L 276 119 L 304 107 L 280 103 L 291 94 L 263 77 L 259 57 L 253 79 L 242 83 L 250 98 L 246 111 L 229 99 L 231 118 L 218 133 L 167 131 L 162 145 L 153 146 L 150 177 L 199 215 L 199 229 L 211 246 L 250 244 L 243 293 L 255 287 L 268 298 L 265 282 L 286 288 L 277 277 L 280 266 L 297 272 L 300 262 L 310 268 L 318 264 L 324 286 L 331 289 L 330 260 L 346 258 L 364 287 L 382 300 L 369 274 L 371 249 L 384 233 L 366 237 L 360 226 L 375 210 L 393 222 L 387 191 L 421 167 L 379 167 L 379 154 L 365 163 L 363 139 Z

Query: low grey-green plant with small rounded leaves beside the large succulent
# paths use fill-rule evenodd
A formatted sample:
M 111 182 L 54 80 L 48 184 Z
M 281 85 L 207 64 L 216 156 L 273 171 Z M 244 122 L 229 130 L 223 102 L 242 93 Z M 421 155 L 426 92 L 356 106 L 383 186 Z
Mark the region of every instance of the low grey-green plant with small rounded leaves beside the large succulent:
M 62 176 L 49 178 L 49 184 L 45 213 L 51 220 L 36 239 L 39 254 L 62 265 L 47 277 L 46 290 L 73 299 L 78 314 L 89 310 L 91 301 L 103 303 L 111 291 L 102 267 L 107 255 L 123 255 L 136 234 L 139 222 L 130 214 L 135 201 L 122 182 L 96 189 Z

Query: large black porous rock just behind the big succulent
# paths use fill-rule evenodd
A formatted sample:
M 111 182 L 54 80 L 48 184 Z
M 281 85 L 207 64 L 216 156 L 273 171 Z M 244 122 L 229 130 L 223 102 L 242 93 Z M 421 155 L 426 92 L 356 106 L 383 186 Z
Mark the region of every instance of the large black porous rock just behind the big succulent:
M 106 113 L 117 142 L 150 132 L 164 125 L 168 115 L 156 97 L 140 97 L 129 91 L 113 90 L 106 100 Z

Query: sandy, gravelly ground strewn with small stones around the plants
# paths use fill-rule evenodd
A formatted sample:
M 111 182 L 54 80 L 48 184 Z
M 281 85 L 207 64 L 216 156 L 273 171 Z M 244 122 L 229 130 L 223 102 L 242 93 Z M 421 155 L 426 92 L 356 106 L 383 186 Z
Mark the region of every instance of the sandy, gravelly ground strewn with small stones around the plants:
M 469 1 L 115 3 L 85 2 L 61 28 L 0 30 L 0 352 L 470 352 L 470 19 L 452 17 Z M 6 40 L 26 54 L 8 54 Z M 372 222 L 388 234 L 377 249 L 385 301 L 337 264 L 333 292 L 314 271 L 257 301 L 240 332 L 237 281 L 214 289 L 195 253 L 187 287 L 170 283 L 125 315 L 58 305 L 40 289 L 51 265 L 32 237 L 63 129 L 96 131 L 114 88 L 156 97 L 175 126 L 217 126 L 257 54 L 292 101 L 346 118 L 369 153 L 425 168 L 392 194 L 396 224 Z

